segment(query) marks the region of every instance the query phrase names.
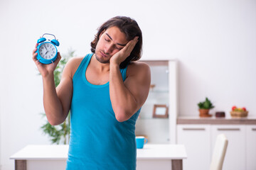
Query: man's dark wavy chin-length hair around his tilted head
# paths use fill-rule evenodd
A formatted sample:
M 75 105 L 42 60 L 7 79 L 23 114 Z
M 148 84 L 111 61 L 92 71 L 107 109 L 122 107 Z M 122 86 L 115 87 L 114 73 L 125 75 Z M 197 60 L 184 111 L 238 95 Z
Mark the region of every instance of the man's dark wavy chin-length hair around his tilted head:
M 119 28 L 120 31 L 126 35 L 126 39 L 128 41 L 132 40 L 136 36 L 139 37 L 139 41 L 135 45 L 129 57 L 127 57 L 127 59 L 120 64 L 120 68 L 123 69 L 127 67 L 127 64 L 129 64 L 131 61 L 137 61 L 142 57 L 142 30 L 139 28 L 138 23 L 132 18 L 126 16 L 116 16 L 114 18 L 110 18 L 110 20 L 106 21 L 102 24 L 102 26 L 100 26 L 100 28 L 98 28 L 95 39 L 90 43 L 92 52 L 95 52 L 97 42 L 100 39 L 100 33 L 113 26 Z

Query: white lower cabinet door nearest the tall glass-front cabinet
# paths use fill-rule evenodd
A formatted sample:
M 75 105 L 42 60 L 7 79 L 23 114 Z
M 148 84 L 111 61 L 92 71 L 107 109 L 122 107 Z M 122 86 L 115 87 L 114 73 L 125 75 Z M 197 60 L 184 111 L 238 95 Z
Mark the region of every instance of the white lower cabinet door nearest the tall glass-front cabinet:
M 185 145 L 188 155 L 183 169 L 206 170 L 210 167 L 210 125 L 177 125 L 177 143 Z

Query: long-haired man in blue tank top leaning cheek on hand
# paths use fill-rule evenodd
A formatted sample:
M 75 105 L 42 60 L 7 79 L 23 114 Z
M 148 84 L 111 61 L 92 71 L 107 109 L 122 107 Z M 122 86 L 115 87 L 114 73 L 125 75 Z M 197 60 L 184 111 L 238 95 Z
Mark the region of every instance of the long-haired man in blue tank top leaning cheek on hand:
M 102 24 L 91 47 L 91 54 L 66 64 L 56 89 L 60 54 L 53 64 L 41 64 L 33 50 L 46 116 L 58 125 L 71 113 L 66 169 L 135 170 L 135 123 L 150 86 L 149 66 L 135 62 L 142 31 L 133 19 L 117 16 Z

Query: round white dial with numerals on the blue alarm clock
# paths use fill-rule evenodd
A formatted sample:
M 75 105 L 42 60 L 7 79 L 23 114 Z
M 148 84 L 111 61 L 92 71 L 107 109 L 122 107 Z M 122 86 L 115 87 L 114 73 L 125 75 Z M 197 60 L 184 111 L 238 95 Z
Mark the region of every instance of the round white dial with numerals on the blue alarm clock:
M 50 60 L 56 55 L 56 48 L 50 42 L 45 42 L 39 47 L 39 55 L 46 60 Z

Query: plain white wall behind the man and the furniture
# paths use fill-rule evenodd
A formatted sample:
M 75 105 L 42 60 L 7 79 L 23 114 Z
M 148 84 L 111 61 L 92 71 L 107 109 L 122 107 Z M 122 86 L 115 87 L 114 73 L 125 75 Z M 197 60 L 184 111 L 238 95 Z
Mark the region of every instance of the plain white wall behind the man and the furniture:
M 0 1 L 0 164 L 41 134 L 42 82 L 31 60 L 36 40 L 53 33 L 59 51 L 90 52 L 96 28 L 117 15 L 135 18 L 144 35 L 142 59 L 177 59 L 180 115 L 198 115 L 206 96 L 214 111 L 245 106 L 256 116 L 256 1 Z

